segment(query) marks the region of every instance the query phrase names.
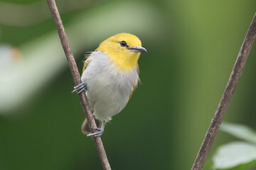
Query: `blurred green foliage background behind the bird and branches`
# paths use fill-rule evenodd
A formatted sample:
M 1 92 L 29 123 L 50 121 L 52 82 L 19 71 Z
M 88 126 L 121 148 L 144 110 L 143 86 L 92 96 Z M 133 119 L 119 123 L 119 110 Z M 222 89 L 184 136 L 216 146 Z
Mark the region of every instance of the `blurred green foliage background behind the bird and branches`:
M 18 81 L 11 88 L 0 81 L 0 92 L 6 95 L 0 98 L 18 98 L 19 91 L 33 94 L 9 111 L 0 108 L 0 169 L 102 169 L 95 145 L 80 132 L 85 116 L 78 96 L 70 94 L 74 83 L 50 11 L 39 10 L 48 10 L 46 1 L 0 3 L 0 8 L 7 3 L 21 9 L 0 10 L 1 44 L 18 49 L 26 64 L 34 61 L 29 62 L 30 72 L 19 62 L 11 65 L 23 73 L 15 74 Z M 35 3 L 40 5 L 29 18 L 41 19 L 28 22 L 23 8 Z M 148 50 L 139 60 L 142 84 L 102 135 L 112 169 L 191 169 L 256 1 L 58 0 L 57 5 L 80 70 L 85 52 L 115 33 L 137 35 Z M 255 54 L 254 45 L 225 116 L 252 128 Z M 1 66 L 0 72 L 0 79 L 9 75 Z M 218 134 L 209 157 L 232 140 Z M 207 159 L 204 169 L 211 167 Z

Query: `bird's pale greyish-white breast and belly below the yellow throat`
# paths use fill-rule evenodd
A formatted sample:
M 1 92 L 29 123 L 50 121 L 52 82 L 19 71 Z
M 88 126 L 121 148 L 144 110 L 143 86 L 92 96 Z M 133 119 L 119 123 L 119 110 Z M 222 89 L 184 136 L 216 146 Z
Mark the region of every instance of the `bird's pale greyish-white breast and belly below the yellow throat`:
M 95 118 L 109 121 L 127 105 L 139 80 L 137 67 L 131 72 L 120 72 L 107 54 L 97 51 L 91 57 L 82 73 L 82 82 L 87 84 L 86 95 Z

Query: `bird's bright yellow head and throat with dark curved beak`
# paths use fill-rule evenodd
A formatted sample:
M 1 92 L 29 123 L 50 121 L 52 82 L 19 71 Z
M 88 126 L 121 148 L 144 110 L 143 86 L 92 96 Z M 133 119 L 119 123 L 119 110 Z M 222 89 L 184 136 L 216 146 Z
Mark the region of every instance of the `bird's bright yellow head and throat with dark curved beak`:
M 129 33 L 119 33 L 100 43 L 97 48 L 107 53 L 120 71 L 131 71 L 137 66 L 140 52 L 146 52 L 137 36 Z

